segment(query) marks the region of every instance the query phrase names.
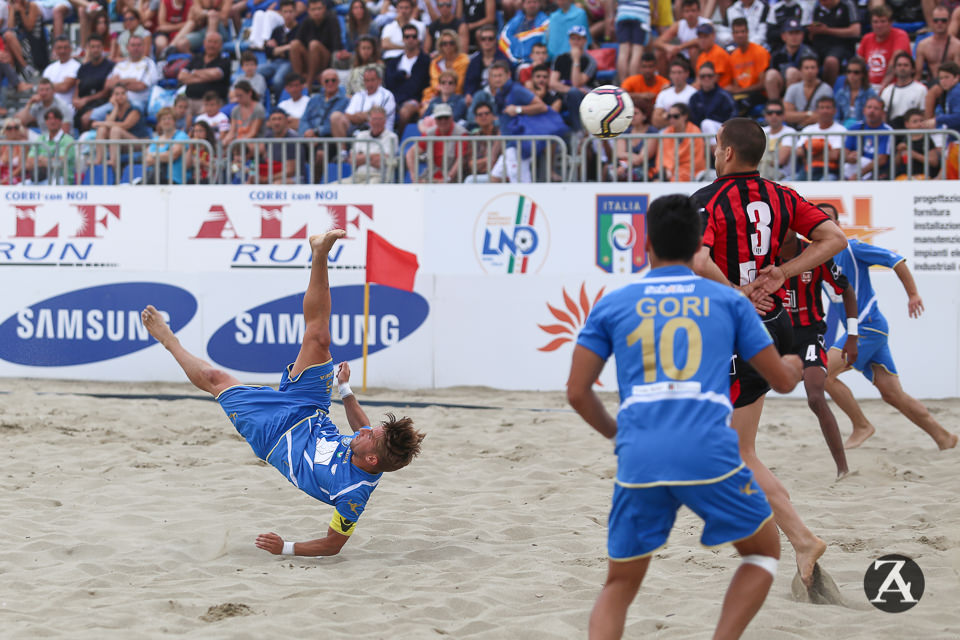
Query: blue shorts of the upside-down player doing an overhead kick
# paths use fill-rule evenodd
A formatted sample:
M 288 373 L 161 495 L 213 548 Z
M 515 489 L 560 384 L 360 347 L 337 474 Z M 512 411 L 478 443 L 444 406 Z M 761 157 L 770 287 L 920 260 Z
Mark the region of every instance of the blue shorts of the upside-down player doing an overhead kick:
M 261 460 L 287 431 L 308 418 L 330 411 L 333 388 L 333 360 L 304 369 L 290 378 L 287 365 L 280 377 L 280 388 L 237 385 L 225 389 L 217 402 L 237 431 Z

